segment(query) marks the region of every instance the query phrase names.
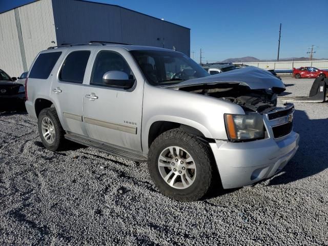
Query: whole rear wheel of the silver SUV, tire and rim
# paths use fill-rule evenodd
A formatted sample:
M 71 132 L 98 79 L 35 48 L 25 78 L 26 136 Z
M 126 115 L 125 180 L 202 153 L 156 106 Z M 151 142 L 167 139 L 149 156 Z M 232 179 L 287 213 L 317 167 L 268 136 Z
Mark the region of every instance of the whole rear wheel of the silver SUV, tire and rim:
M 64 146 L 65 131 L 55 108 L 43 109 L 39 113 L 37 126 L 41 141 L 48 150 L 57 151 Z

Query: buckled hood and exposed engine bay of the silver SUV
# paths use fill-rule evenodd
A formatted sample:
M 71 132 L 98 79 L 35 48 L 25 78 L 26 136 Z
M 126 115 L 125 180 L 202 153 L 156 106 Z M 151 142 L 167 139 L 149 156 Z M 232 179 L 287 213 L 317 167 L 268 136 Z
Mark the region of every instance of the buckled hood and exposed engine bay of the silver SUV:
M 277 94 L 285 90 L 280 79 L 255 67 L 190 79 L 168 87 L 220 98 L 241 106 L 246 113 L 260 114 L 274 110 Z

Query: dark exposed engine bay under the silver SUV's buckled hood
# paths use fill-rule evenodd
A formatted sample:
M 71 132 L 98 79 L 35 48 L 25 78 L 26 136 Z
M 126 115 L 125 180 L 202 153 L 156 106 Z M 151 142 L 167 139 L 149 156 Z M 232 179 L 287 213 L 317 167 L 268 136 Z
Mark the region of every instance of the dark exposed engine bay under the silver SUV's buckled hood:
M 261 114 L 275 109 L 277 105 L 277 94 L 284 91 L 282 88 L 251 90 L 248 86 L 237 83 L 199 85 L 183 87 L 179 88 L 179 90 L 227 100 L 240 105 L 245 112 L 252 111 Z

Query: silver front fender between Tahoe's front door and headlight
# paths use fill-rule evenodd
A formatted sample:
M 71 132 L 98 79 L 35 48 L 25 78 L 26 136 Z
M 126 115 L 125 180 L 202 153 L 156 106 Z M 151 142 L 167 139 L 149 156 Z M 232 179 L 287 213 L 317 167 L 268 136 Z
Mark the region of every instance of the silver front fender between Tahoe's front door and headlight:
M 211 96 L 145 84 L 142 107 L 142 150 L 148 153 L 149 130 L 156 121 L 190 126 L 207 138 L 227 139 L 224 113 L 244 114 L 244 111 L 239 105 Z

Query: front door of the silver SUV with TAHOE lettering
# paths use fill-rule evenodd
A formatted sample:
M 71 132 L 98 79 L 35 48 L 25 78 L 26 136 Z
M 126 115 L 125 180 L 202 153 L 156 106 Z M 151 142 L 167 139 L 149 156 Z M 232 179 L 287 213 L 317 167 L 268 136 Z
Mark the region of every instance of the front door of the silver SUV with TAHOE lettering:
M 137 71 L 132 71 L 127 60 L 133 63 L 128 53 L 98 52 L 90 84 L 84 87 L 83 120 L 90 138 L 141 151 L 144 79 Z M 129 79 L 134 79 L 134 85 L 129 89 L 109 85 L 103 81 L 104 74 L 109 71 L 126 73 Z

